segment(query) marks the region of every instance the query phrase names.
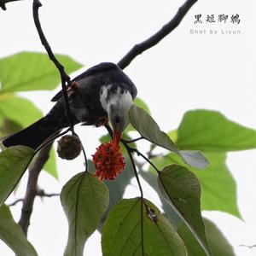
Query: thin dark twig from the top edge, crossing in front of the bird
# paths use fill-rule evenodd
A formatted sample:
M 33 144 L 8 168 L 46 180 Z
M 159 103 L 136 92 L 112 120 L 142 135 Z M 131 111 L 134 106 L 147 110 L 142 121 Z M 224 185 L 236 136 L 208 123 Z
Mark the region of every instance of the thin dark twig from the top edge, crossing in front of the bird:
M 71 114 L 70 114 L 70 108 L 69 108 L 69 102 L 68 102 L 68 96 L 67 96 L 67 88 L 66 88 L 66 83 L 71 86 L 72 82 L 70 77 L 67 75 L 67 73 L 65 72 L 64 67 L 61 65 L 61 63 L 56 59 L 55 55 L 53 54 L 49 43 L 47 41 L 47 39 L 44 36 L 44 32 L 39 20 L 39 15 L 38 15 L 38 9 L 42 6 L 42 3 L 40 3 L 39 0 L 33 0 L 33 18 L 34 18 L 34 22 L 35 22 L 35 26 L 37 27 L 38 30 L 38 35 L 39 38 L 41 40 L 41 43 L 44 45 L 45 50 L 47 51 L 48 55 L 49 55 L 49 59 L 51 61 L 54 62 L 55 67 L 59 70 L 60 75 L 61 75 L 61 86 L 62 86 L 62 93 L 64 96 L 64 101 L 65 101 L 65 109 L 66 109 L 66 113 L 67 113 L 67 120 L 68 120 L 68 124 L 70 126 L 71 131 L 73 132 L 73 120 L 71 118 Z

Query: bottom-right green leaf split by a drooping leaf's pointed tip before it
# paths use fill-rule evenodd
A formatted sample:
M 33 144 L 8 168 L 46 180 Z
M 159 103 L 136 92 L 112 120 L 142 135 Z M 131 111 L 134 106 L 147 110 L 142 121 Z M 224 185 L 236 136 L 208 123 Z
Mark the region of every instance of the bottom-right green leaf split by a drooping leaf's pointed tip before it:
M 218 230 L 218 227 L 212 223 L 212 221 L 204 218 L 206 226 L 207 241 L 212 252 L 212 256 L 235 256 L 233 248 L 230 246 L 229 241 L 224 237 L 222 232 Z M 195 241 L 195 237 L 192 236 L 188 228 L 182 224 L 178 228 L 178 234 L 183 238 L 185 245 L 188 249 L 188 256 L 205 256 L 206 253 Z

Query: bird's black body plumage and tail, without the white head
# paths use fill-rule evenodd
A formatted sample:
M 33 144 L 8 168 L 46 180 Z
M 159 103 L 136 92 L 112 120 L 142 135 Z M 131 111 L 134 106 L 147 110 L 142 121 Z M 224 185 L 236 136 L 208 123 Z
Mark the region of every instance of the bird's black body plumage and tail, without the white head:
M 129 92 L 132 99 L 137 96 L 136 86 L 131 79 L 117 65 L 109 62 L 90 67 L 81 73 L 73 79 L 73 87 L 67 87 L 67 92 L 73 125 L 82 123 L 98 126 L 102 119 L 108 119 L 108 109 L 102 106 L 103 95 L 107 105 L 117 93 L 118 96 L 122 96 Z M 55 106 L 44 118 L 5 138 L 3 145 L 5 147 L 25 145 L 36 149 L 47 138 L 67 127 L 69 124 L 62 91 L 56 94 L 52 101 L 56 102 Z

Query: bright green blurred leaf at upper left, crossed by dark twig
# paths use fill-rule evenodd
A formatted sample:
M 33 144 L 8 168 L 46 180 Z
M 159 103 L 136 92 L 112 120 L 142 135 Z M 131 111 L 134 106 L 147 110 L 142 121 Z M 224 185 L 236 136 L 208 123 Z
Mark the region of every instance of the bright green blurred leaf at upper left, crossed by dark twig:
M 67 73 L 81 66 L 67 55 L 55 55 Z M 48 55 L 20 52 L 0 60 L 2 91 L 54 90 L 60 84 L 60 74 Z

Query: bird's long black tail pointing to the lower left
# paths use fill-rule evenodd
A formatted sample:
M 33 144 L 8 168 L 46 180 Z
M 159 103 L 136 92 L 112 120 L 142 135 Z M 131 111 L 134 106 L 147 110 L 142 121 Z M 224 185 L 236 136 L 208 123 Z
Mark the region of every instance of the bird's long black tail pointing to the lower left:
M 42 118 L 26 127 L 24 130 L 4 138 L 2 143 L 7 148 L 16 145 L 23 145 L 36 149 L 44 143 L 47 138 L 58 133 L 58 131 L 60 131 L 60 129 L 57 125 L 48 125 L 45 118 Z

